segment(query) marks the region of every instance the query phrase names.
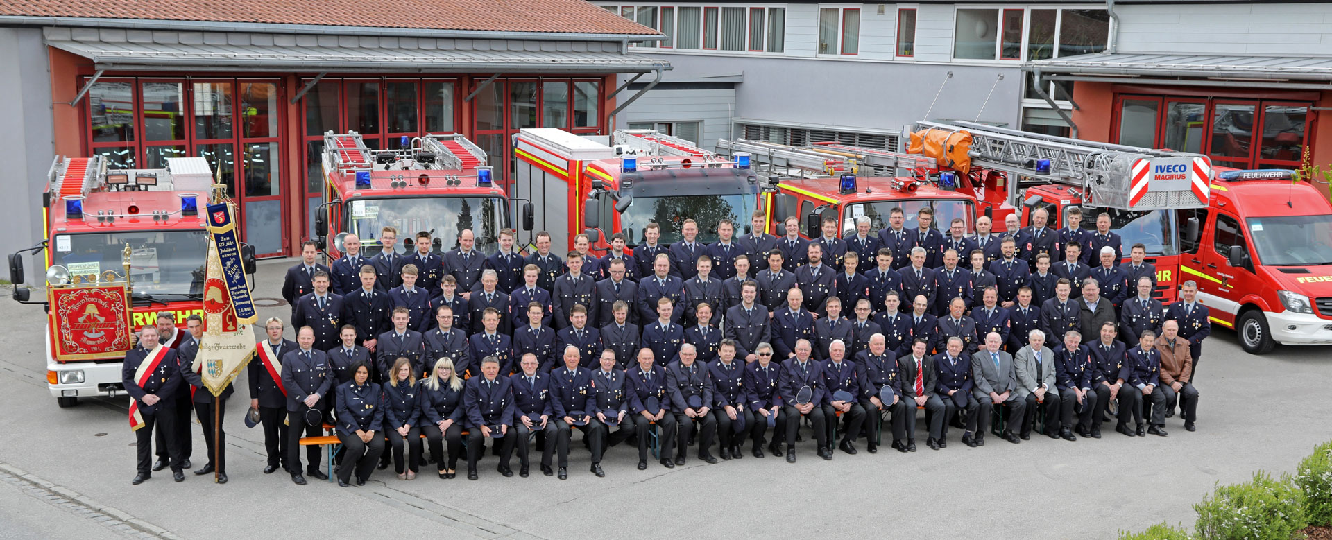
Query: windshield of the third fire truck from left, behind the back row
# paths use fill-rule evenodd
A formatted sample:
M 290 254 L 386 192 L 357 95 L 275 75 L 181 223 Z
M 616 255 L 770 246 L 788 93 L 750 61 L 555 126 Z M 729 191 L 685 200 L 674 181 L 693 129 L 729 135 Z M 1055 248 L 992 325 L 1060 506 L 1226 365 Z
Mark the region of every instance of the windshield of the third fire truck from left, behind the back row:
M 753 213 L 753 194 L 634 197 L 629 209 L 619 214 L 619 230 L 625 233 L 629 245 L 638 245 L 643 242 L 643 227 L 657 222 L 662 231 L 658 242 L 671 243 L 685 238 L 679 231 L 685 219 L 694 219 L 698 222 L 695 239 L 711 243 L 717 242 L 718 221 L 725 218 L 733 223 L 746 223 Z

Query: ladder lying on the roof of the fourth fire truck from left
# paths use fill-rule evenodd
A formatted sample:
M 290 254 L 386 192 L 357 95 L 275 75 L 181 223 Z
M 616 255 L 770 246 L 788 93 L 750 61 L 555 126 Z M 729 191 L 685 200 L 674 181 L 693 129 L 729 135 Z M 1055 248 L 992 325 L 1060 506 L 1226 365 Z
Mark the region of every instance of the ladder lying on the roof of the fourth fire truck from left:
M 815 174 L 860 176 L 918 176 L 938 170 L 935 158 L 904 154 L 874 148 L 851 146 L 839 142 L 815 142 L 810 146 L 789 146 L 767 141 L 743 138 L 717 141 L 718 150 L 730 154 L 749 152 L 759 165 L 771 169 L 799 169 Z

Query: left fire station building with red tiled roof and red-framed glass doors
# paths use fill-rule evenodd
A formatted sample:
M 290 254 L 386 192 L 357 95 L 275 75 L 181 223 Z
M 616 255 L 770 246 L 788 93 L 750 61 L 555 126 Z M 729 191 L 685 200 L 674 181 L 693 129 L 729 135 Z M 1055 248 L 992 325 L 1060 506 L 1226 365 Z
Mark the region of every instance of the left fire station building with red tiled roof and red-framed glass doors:
M 617 93 L 617 74 L 670 69 L 627 55 L 657 31 L 583 0 L 310 5 L 0 4 L 0 251 L 43 235 L 55 156 L 145 169 L 201 156 L 238 203 L 242 239 L 261 257 L 292 255 L 322 202 L 328 130 L 372 148 L 462 133 L 507 182 L 518 129 L 609 133 L 617 102 L 635 94 Z

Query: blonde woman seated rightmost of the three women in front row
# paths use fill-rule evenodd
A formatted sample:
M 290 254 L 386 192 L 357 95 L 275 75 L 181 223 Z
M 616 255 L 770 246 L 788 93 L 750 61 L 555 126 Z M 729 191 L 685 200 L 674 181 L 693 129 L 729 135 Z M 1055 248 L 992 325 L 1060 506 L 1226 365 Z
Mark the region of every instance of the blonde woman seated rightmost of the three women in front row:
M 452 479 L 462 458 L 462 379 L 453 371 L 453 360 L 441 358 L 421 379 L 417 390 L 421 403 L 421 432 L 430 446 L 430 458 L 440 466 L 440 477 Z M 444 462 L 444 440 L 449 442 L 449 463 Z

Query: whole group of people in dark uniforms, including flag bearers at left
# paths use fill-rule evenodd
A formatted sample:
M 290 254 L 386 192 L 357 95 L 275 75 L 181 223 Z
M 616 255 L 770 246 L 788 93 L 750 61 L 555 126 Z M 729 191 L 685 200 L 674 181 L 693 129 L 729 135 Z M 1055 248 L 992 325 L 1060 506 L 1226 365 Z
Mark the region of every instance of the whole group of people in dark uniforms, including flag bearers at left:
M 931 450 L 947 447 L 950 426 L 968 447 L 987 432 L 1016 444 L 1034 430 L 1074 442 L 1100 438 L 1110 416 L 1127 436 L 1166 436 L 1176 403 L 1195 431 L 1192 380 L 1211 331 L 1196 285 L 1163 306 L 1142 245 L 1122 262 L 1108 215 L 1096 230 L 1080 227 L 1079 209 L 1067 215 L 1058 230 L 1046 210 L 1027 227 L 1016 215 L 1002 230 L 988 217 L 935 227 L 926 207 L 907 229 L 895 207 L 882 230 L 860 217 L 839 238 L 825 219 L 809 241 L 795 217 L 785 235 L 765 234 L 759 211 L 739 237 L 722 219 L 710 245 L 697 242 L 693 219 L 669 246 L 649 223 L 645 243 L 629 249 L 614 234 L 603 257 L 578 235 L 562 258 L 547 233 L 519 254 L 511 230 L 494 254 L 476 250 L 470 230 L 442 254 L 426 231 L 400 253 L 398 231 L 384 227 L 381 253 L 365 257 L 346 235 L 325 266 L 306 242 L 282 285 L 290 325 L 268 319 L 249 364 L 246 423 L 262 424 L 264 472 L 281 468 L 297 484 L 328 479 L 320 446 L 306 446 L 305 467 L 300 447 L 333 430 L 341 450 L 329 473 L 344 487 L 390 464 L 410 480 L 426 448 L 440 477 L 465 459 L 476 480 L 486 439 L 501 475 L 513 476 L 517 448 L 527 476 L 534 446 L 541 472 L 565 479 L 574 430 L 597 476 L 603 452 L 626 442 L 639 470 L 649 452 L 683 466 L 690 446 L 707 463 L 714 444 L 721 459 L 741 459 L 746 438 L 754 458 L 767 450 L 794 463 L 805 423 L 826 460 L 856 454 L 860 438 L 876 452 L 886 420 L 891 447 L 914 452 L 918 410 Z M 190 399 L 198 323 L 177 331 L 159 318 L 125 358 L 127 390 L 159 426 L 152 466 L 152 430 L 140 430 L 136 484 L 165 467 L 184 479 L 190 406 L 209 452 L 194 473 L 224 470 L 212 398 Z M 140 387 L 132 374 L 159 340 L 169 362 Z

